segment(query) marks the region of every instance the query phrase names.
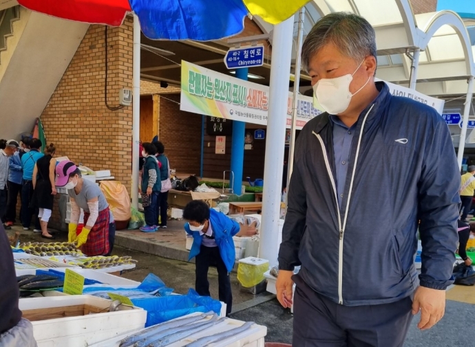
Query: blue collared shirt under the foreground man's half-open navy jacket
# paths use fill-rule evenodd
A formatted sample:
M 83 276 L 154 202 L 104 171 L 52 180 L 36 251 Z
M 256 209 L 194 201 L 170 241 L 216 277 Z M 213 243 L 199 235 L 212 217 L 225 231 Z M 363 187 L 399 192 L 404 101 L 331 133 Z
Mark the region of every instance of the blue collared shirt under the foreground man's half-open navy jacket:
M 355 134 L 356 123 L 348 128 L 336 115 L 330 115 L 330 121 L 333 128 L 333 155 L 335 157 L 336 170 L 335 184 L 337 185 L 338 205 L 341 207 L 350 161 L 351 142 Z

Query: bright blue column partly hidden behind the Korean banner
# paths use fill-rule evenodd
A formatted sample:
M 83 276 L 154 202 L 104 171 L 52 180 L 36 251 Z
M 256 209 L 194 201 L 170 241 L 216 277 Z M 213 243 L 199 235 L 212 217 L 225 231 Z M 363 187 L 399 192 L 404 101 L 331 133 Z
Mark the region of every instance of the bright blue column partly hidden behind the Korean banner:
M 249 69 L 243 67 L 236 69 L 236 77 L 247 80 Z M 244 137 L 246 136 L 246 123 L 233 120 L 233 140 L 231 142 L 231 171 L 234 174 L 233 192 L 241 195 L 242 168 L 244 167 Z M 230 179 L 232 178 L 232 175 Z M 230 181 L 232 184 L 232 181 Z

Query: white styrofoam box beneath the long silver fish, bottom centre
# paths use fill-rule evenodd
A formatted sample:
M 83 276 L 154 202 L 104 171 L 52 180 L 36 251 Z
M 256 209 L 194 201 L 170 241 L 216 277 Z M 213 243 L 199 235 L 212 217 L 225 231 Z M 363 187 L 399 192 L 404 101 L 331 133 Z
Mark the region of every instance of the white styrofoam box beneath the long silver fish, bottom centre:
M 196 315 L 197 313 L 192 313 L 191 315 Z M 190 315 L 190 316 L 191 316 Z M 189 337 L 185 337 L 178 342 L 173 344 L 167 345 L 167 347 L 183 347 L 191 344 L 191 342 L 200 339 L 201 337 L 207 337 L 211 335 L 215 335 L 218 333 L 223 333 L 224 331 L 229 331 L 233 328 L 237 328 L 242 326 L 244 322 L 239 320 L 231 320 L 226 319 L 224 322 L 216 324 L 215 326 L 211 326 L 211 328 L 204 329 L 200 331 L 200 333 L 193 334 Z M 114 339 L 110 339 L 107 342 L 103 342 L 101 344 L 94 344 L 89 347 L 118 347 L 120 341 L 127 337 L 129 334 L 124 334 L 118 336 Z M 207 346 L 210 347 L 264 347 L 264 337 L 267 335 L 267 328 L 266 326 L 260 326 L 257 324 L 253 324 L 251 328 L 243 333 L 234 335 L 229 339 L 222 339 L 219 342 L 215 342 L 213 344 L 208 344 Z

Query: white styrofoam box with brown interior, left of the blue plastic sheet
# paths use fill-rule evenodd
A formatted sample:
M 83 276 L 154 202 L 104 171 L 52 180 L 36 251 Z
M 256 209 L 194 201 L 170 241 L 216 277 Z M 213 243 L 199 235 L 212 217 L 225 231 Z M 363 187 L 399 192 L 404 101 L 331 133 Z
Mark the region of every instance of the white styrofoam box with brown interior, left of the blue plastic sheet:
M 52 296 L 20 300 L 19 309 L 26 311 L 81 304 L 107 309 L 111 303 L 111 300 L 91 295 Z M 34 338 L 38 347 L 84 347 L 107 341 L 120 334 L 134 333 L 145 327 L 147 311 L 123 305 L 120 310 L 32 322 Z

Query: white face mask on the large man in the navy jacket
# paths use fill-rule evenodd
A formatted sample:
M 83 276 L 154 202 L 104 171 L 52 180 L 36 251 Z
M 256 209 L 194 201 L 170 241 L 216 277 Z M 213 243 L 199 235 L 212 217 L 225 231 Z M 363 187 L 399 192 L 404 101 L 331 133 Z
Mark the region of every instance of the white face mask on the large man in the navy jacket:
M 350 92 L 350 83 L 353 80 L 353 75 L 356 74 L 356 71 L 358 71 L 361 64 L 363 64 L 363 61 L 361 61 L 355 72 L 351 75 L 346 74 L 337 78 L 321 78 L 321 80 L 313 86 L 313 92 L 319 104 L 325 111 L 330 113 L 330 115 L 338 115 L 346 111 L 352 96 L 355 96 L 370 81 L 370 77 L 368 77 L 363 87 L 358 89 L 354 94 Z

